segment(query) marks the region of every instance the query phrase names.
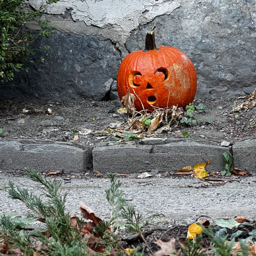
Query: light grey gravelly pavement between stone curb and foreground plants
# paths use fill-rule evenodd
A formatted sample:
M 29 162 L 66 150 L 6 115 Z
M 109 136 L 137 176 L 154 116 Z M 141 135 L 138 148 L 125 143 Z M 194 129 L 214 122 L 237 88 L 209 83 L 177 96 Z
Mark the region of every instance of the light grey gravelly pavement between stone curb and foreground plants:
M 27 187 L 36 195 L 42 196 L 41 186 L 27 177 L 17 177 L 0 173 L 0 187 L 8 188 L 8 180 L 16 185 Z M 148 212 L 160 212 L 166 220 L 195 220 L 200 215 L 209 218 L 232 218 L 245 216 L 255 219 L 256 180 L 255 177 L 229 177 L 232 182 L 222 186 L 211 185 L 192 177 L 150 177 L 137 179 L 119 178 L 126 198 L 144 215 Z M 62 179 L 63 177 L 56 177 Z M 214 182 L 211 182 L 214 184 Z M 104 190 L 110 185 L 105 177 L 93 177 L 91 174 L 71 177 L 64 183 L 63 191 L 68 191 L 67 210 L 72 215 L 80 215 L 79 201 L 91 207 L 99 217 L 109 218 L 110 207 L 105 199 Z M 21 216 L 27 209 L 18 200 L 11 200 L 8 194 L 0 191 L 0 214 L 17 211 Z

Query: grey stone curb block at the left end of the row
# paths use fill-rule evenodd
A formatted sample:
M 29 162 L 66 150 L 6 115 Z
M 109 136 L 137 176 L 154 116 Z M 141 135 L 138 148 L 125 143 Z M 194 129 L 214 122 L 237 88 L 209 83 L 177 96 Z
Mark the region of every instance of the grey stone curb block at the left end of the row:
M 69 143 L 34 144 L 25 140 L 0 142 L 0 169 L 35 168 L 39 172 L 64 170 L 65 173 L 85 172 L 90 165 L 91 148 L 81 149 Z

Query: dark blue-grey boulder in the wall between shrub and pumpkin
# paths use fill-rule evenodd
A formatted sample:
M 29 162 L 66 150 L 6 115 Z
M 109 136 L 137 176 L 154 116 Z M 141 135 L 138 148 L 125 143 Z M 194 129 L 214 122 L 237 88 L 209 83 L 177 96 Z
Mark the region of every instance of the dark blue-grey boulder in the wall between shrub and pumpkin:
M 110 40 L 56 31 L 36 47 L 50 45 L 34 59 L 45 58 L 1 86 L 0 101 L 63 102 L 82 98 L 102 99 L 109 91 L 121 63 Z

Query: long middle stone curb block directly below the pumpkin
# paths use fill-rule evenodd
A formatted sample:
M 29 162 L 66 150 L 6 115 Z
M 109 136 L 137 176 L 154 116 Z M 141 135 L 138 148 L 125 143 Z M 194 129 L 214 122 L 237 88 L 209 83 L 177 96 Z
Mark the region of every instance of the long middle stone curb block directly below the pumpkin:
M 153 140 L 152 140 L 153 141 Z M 147 143 L 148 144 L 148 143 Z M 100 173 L 169 172 L 210 160 L 209 172 L 223 170 L 229 148 L 212 144 L 173 142 L 160 145 L 112 145 L 93 149 L 93 168 Z

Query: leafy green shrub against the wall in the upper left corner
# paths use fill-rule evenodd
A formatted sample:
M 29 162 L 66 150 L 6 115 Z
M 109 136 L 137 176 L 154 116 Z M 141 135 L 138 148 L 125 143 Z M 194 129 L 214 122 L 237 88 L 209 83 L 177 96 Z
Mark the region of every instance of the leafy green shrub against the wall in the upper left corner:
M 27 10 L 24 0 L 0 0 L 0 81 L 1 83 L 13 80 L 14 73 L 28 71 L 24 64 L 29 62 L 27 57 L 37 49 L 31 48 L 31 43 L 40 37 L 48 37 L 54 33 L 50 21 L 40 21 L 40 16 L 48 5 L 58 0 L 48 0 L 39 10 Z M 39 33 L 25 32 L 27 22 L 36 21 L 41 30 Z M 45 49 L 50 49 L 45 46 Z M 40 61 L 44 58 L 41 57 Z M 30 61 L 33 62 L 33 61 Z

